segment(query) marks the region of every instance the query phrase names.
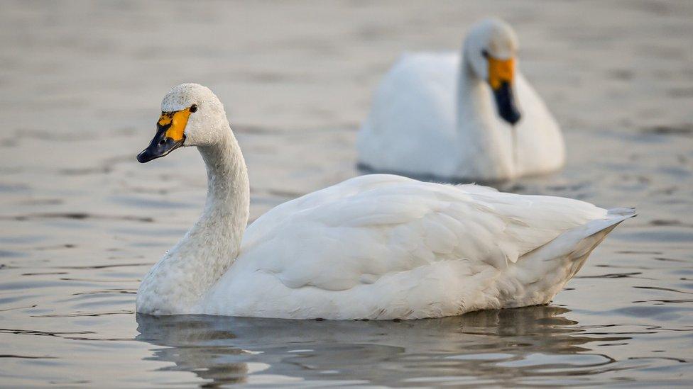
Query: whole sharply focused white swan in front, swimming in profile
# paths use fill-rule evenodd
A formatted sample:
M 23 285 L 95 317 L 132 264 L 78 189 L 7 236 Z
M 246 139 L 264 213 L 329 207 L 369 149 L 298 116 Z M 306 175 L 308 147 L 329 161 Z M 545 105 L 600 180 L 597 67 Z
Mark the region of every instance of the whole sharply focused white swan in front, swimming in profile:
M 163 98 L 139 162 L 195 146 L 200 219 L 141 281 L 136 310 L 293 319 L 415 319 L 549 303 L 632 209 L 371 174 L 269 210 L 205 86 Z

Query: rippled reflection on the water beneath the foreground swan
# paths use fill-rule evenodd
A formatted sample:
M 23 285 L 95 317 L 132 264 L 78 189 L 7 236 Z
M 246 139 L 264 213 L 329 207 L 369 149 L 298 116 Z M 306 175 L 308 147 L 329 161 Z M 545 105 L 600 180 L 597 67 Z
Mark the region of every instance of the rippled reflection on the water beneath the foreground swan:
M 608 370 L 615 361 L 586 345 L 630 338 L 581 335 L 567 312 L 535 306 L 401 322 L 137 315 L 136 339 L 164 346 L 153 359 L 175 363 L 168 369 L 211 385 L 258 375 L 304 384 L 565 383 Z

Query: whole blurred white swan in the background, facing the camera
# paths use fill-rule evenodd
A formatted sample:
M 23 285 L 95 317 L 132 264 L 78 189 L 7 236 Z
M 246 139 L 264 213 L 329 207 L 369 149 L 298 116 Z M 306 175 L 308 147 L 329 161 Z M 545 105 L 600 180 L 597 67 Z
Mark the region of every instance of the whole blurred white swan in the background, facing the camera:
M 359 167 L 481 182 L 560 169 L 560 128 L 517 71 L 517 51 L 511 26 L 488 19 L 471 28 L 461 56 L 403 55 L 359 131 Z

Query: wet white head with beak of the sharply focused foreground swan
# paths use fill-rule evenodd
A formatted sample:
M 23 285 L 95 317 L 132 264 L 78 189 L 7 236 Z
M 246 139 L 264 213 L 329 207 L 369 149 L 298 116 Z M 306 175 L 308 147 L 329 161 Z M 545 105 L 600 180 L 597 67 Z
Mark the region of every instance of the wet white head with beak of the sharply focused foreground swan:
M 224 106 L 207 86 L 180 84 L 161 101 L 156 134 L 137 155 L 141 163 L 165 157 L 181 146 L 207 146 L 220 142 L 229 132 Z

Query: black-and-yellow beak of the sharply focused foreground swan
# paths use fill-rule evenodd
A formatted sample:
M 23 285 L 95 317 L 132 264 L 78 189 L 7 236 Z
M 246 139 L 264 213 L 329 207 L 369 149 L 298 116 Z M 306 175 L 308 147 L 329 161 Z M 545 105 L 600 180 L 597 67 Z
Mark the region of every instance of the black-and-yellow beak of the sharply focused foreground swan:
M 185 142 L 185 126 L 190 118 L 190 108 L 174 112 L 162 112 L 156 123 L 156 135 L 149 146 L 137 154 L 137 161 L 149 162 L 152 159 L 165 157 Z

